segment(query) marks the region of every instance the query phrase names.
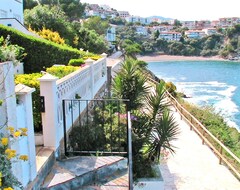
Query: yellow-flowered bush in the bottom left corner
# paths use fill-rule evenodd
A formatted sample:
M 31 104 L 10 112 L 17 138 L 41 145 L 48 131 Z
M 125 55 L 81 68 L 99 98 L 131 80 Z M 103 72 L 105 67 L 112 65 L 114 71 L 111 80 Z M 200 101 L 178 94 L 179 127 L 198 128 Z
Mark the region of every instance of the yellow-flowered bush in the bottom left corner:
M 6 134 L 0 133 L 0 190 L 23 188 L 12 173 L 12 163 L 19 160 L 27 161 L 28 156 L 18 155 L 16 150 L 10 148 L 11 143 L 22 136 L 27 136 L 26 128 L 15 130 L 13 127 L 8 127 Z

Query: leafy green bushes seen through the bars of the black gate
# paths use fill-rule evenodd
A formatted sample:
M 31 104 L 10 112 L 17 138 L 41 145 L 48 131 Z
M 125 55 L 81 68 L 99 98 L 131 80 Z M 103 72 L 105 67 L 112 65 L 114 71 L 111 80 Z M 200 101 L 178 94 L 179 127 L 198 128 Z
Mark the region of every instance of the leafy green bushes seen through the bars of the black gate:
M 127 117 L 121 102 L 99 101 L 81 118 L 70 133 L 73 151 L 127 151 Z

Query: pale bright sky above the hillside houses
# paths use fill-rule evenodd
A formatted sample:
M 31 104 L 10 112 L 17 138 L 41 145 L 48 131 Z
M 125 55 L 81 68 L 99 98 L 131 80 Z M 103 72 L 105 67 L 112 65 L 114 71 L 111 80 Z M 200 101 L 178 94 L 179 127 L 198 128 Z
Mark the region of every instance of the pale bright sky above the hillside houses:
M 240 0 L 80 0 L 82 3 L 109 5 L 130 15 L 163 16 L 178 20 L 218 20 L 240 17 Z

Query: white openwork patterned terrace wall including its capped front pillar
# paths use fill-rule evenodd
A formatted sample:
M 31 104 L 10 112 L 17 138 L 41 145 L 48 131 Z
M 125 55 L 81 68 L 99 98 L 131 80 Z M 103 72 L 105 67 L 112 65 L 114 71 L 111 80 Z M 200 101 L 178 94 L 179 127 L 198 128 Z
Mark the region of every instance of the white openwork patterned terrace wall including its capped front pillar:
M 75 99 L 76 94 L 81 99 L 93 99 L 106 83 L 106 55 L 93 61 L 88 59 L 87 66 L 59 79 L 50 74 L 40 78 L 40 95 L 44 97 L 45 111 L 42 112 L 43 141 L 45 147 L 57 150 L 63 139 L 63 108 L 64 99 Z M 82 112 L 86 104 L 81 104 Z M 65 114 L 73 113 L 73 117 L 66 117 L 67 130 L 72 126 L 72 120 L 79 117 L 79 110 L 75 104 L 67 104 Z M 57 151 L 56 151 L 56 156 Z

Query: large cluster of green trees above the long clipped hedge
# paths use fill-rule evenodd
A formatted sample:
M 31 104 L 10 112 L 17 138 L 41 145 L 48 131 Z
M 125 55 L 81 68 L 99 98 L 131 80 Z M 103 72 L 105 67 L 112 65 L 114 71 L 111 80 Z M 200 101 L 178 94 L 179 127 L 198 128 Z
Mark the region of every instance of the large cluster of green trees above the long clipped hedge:
M 42 0 L 41 5 L 24 11 L 25 25 L 36 32 L 43 28 L 58 32 L 66 44 L 77 49 L 98 54 L 107 52 L 105 34 L 109 23 L 93 17 L 85 20 L 82 26 L 79 19 L 84 8 L 85 4 L 76 0 Z

